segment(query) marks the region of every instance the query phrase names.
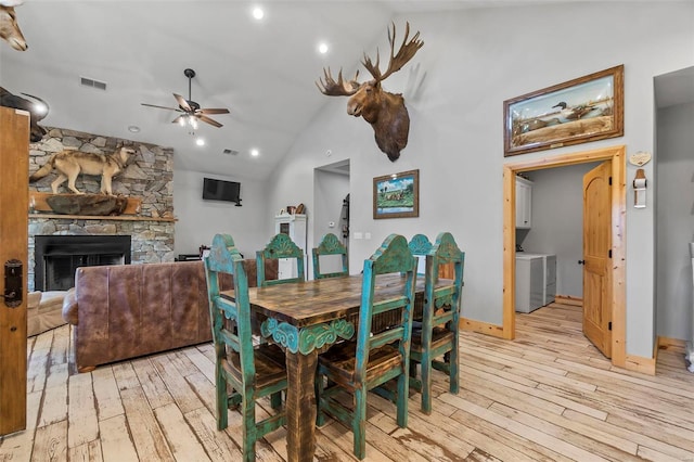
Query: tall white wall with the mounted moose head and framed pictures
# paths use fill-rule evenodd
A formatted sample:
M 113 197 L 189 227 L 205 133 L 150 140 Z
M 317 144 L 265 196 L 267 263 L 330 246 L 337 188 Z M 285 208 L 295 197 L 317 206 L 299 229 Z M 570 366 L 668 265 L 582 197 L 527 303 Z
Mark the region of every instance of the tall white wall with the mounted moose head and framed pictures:
M 324 164 L 326 150 L 333 162 L 349 158 L 352 235 L 373 236 L 351 240 L 350 270 L 388 233 L 409 239 L 417 232 L 434 238 L 450 231 L 466 252 L 463 316 L 501 324 L 502 167 L 517 161 L 503 157 L 503 101 L 624 64 L 624 138 L 524 158 L 615 144 L 626 144 L 628 154 L 653 151 L 653 77 L 692 65 L 694 3 L 583 2 L 395 18 L 396 24 L 406 21 L 421 31 L 425 44 L 384 84 L 394 92 L 411 89 L 406 93 L 410 139 L 400 159 L 390 163 L 377 150 L 371 127 L 345 114 L 346 99 L 331 98 L 273 174 L 269 206 L 281 207 L 287 196 L 312 206 L 310 177 Z M 385 37 L 377 44 L 387 50 Z M 365 51 L 375 55 L 375 46 Z M 326 97 L 317 91 L 316 98 Z M 645 166 L 648 177 L 652 164 Z M 373 220 L 373 177 L 415 168 L 420 217 Z M 627 178 L 633 175 L 628 167 Z M 630 207 L 626 229 L 627 352 L 650 358 L 655 336 L 653 207 Z

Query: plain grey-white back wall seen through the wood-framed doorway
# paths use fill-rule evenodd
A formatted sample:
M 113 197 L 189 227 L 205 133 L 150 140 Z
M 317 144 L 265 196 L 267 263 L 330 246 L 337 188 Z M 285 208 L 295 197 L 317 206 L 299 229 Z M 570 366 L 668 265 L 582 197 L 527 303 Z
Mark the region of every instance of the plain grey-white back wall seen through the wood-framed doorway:
M 525 252 L 556 254 L 556 293 L 583 297 L 583 175 L 596 163 L 528 172 L 532 228 Z

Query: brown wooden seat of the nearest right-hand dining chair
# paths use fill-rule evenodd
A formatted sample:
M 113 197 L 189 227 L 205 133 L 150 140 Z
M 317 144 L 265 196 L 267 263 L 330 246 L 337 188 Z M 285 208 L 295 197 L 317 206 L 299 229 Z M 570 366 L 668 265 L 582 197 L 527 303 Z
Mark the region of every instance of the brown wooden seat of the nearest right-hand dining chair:
M 329 372 L 332 381 L 343 386 L 352 386 L 355 383 L 356 355 L 357 343 L 343 342 L 333 346 L 324 355 L 319 356 L 318 362 L 320 367 Z M 400 352 L 391 345 L 372 349 L 367 363 L 365 382 L 371 382 L 374 377 L 381 375 L 383 371 L 399 368 L 401 362 Z

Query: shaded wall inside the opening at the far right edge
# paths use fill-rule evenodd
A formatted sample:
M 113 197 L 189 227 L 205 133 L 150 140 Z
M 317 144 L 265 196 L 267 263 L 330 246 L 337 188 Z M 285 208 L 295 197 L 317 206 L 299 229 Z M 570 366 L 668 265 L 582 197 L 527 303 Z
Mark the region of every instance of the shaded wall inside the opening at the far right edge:
M 657 326 L 658 335 L 692 339 L 694 242 L 694 103 L 658 112 Z M 651 194 L 653 187 L 648 189 Z

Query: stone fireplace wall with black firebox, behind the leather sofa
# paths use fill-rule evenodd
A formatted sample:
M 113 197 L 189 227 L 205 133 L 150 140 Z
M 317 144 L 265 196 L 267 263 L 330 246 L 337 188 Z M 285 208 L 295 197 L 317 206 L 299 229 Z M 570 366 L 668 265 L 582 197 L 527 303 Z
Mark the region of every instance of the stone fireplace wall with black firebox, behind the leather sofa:
M 123 262 L 151 264 L 174 261 L 174 152 L 168 147 L 133 142 L 116 138 L 101 137 L 73 130 L 52 128 L 38 143 L 29 147 L 29 174 L 38 170 L 49 162 L 51 155 L 64 150 L 79 150 L 97 154 L 114 152 L 118 145 L 132 145 L 139 150 L 126 170 L 114 178 L 113 193 L 141 201 L 136 215 L 123 216 L 69 216 L 49 213 L 29 213 L 28 242 L 28 290 L 42 288 L 46 282 L 54 279 L 56 284 L 66 285 L 67 280 L 74 281 L 74 269 L 87 265 L 120 264 L 121 257 L 111 252 L 97 256 L 91 251 L 79 253 L 67 258 L 57 257 L 59 270 L 72 271 L 72 275 L 49 274 L 41 268 L 44 265 L 44 251 L 39 249 L 43 238 L 86 238 L 94 239 L 119 236 L 128 239 L 129 249 L 121 252 L 127 255 Z M 51 192 L 51 182 L 55 174 L 29 183 L 30 191 Z M 99 193 L 100 177 L 82 176 L 77 179 L 76 187 L 86 193 Z M 61 188 L 59 193 L 67 192 Z M 82 246 L 82 249 L 87 247 Z M 52 247 L 51 247 L 52 248 Z M 64 269 L 63 264 L 69 268 Z M 75 266 L 75 268 L 73 268 Z M 38 271 L 37 271 L 38 270 Z M 38 272 L 41 272 L 39 274 Z M 48 278 L 47 278 L 48 274 Z M 41 285 L 39 285 L 39 283 Z M 74 282 L 70 283 L 70 287 Z M 53 288 L 61 290 L 61 288 Z

